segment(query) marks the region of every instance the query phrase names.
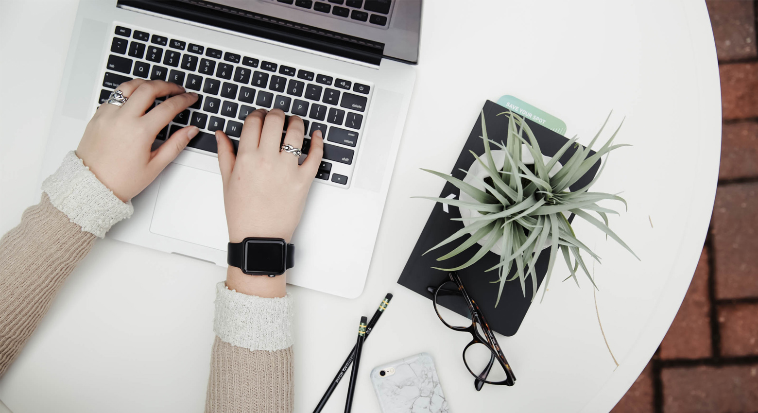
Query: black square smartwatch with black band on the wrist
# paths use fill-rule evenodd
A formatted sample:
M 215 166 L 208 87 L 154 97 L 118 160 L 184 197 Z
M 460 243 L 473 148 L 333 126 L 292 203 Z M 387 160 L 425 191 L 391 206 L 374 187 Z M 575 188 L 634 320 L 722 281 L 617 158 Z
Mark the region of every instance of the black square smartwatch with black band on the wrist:
M 276 277 L 294 266 L 295 246 L 281 238 L 249 237 L 227 244 L 227 264 L 249 275 Z

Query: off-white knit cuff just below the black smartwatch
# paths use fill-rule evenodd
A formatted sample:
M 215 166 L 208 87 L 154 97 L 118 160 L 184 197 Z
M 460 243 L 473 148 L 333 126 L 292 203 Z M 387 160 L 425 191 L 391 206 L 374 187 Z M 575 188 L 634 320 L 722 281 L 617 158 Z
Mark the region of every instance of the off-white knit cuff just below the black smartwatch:
M 233 346 L 274 352 L 294 343 L 293 299 L 287 296 L 264 299 L 229 289 L 224 281 L 216 284 L 216 314 L 213 330 L 218 338 Z

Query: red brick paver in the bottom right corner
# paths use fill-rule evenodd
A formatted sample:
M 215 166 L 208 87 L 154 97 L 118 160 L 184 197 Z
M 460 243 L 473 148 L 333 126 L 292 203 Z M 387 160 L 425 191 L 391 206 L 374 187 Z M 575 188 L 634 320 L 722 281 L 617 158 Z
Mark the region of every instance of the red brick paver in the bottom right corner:
M 664 368 L 663 413 L 758 411 L 758 364 Z

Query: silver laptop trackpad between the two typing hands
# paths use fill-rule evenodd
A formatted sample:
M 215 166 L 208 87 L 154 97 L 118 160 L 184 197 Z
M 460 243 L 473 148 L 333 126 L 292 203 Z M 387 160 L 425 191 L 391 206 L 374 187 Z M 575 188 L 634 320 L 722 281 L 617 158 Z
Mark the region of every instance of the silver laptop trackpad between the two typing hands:
M 161 176 L 150 232 L 226 251 L 221 175 L 169 164 Z

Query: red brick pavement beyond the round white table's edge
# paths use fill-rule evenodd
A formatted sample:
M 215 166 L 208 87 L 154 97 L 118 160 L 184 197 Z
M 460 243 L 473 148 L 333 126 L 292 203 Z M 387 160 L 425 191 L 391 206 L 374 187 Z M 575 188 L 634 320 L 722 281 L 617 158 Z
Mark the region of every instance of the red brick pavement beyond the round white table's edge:
M 758 412 L 758 1 L 706 5 L 724 119 L 711 228 L 669 333 L 612 413 Z

